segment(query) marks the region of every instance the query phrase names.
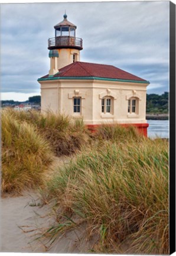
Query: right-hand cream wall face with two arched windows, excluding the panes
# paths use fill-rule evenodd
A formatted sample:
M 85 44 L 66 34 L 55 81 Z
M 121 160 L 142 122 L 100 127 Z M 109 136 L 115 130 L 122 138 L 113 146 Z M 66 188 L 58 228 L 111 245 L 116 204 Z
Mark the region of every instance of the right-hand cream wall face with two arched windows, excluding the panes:
M 109 95 L 113 101 L 113 114 L 101 113 L 100 95 Z M 146 84 L 132 82 L 96 81 L 93 83 L 93 124 L 94 123 L 145 123 L 146 111 Z M 128 99 L 135 97 L 138 100 L 138 114 L 128 113 Z

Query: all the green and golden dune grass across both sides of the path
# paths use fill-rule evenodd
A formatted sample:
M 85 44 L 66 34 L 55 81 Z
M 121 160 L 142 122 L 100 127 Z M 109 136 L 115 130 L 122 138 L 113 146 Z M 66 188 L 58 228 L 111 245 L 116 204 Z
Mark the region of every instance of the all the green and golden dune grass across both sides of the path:
M 43 184 L 53 153 L 74 153 L 42 191 L 57 201 L 58 223 L 45 232 L 51 242 L 76 228 L 76 216 L 99 237 L 94 252 L 169 253 L 167 140 L 119 125 L 90 135 L 82 120 L 37 111 L 3 110 L 1 124 L 2 193 Z

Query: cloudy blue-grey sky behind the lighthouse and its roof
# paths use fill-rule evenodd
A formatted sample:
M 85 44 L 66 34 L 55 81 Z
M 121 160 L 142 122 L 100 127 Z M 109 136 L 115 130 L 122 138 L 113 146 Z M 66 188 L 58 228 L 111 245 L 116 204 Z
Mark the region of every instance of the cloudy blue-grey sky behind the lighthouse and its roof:
M 2 100 L 40 94 L 37 79 L 50 69 L 47 40 L 65 9 L 83 39 L 81 61 L 144 78 L 148 94 L 168 91 L 168 1 L 1 4 Z

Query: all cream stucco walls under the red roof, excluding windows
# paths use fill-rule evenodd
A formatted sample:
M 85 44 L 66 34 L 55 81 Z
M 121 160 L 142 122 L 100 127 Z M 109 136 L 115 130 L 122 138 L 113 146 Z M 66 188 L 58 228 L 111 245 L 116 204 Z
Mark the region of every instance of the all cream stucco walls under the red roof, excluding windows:
M 83 118 L 85 124 L 146 123 L 146 86 L 133 82 L 98 80 L 50 80 L 40 81 L 41 111 L 48 109 Z M 113 113 L 103 114 L 101 97 L 112 97 Z M 73 113 L 73 97 L 82 98 L 81 113 Z M 128 99 L 136 97 L 138 114 L 128 113 Z

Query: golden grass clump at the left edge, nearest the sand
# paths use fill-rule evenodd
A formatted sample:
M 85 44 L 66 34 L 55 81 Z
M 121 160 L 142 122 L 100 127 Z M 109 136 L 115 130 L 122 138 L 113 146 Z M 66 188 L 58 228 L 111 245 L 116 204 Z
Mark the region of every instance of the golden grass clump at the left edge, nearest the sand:
M 48 142 L 32 124 L 20 123 L 5 110 L 1 112 L 1 132 L 2 194 L 41 185 L 53 158 Z

